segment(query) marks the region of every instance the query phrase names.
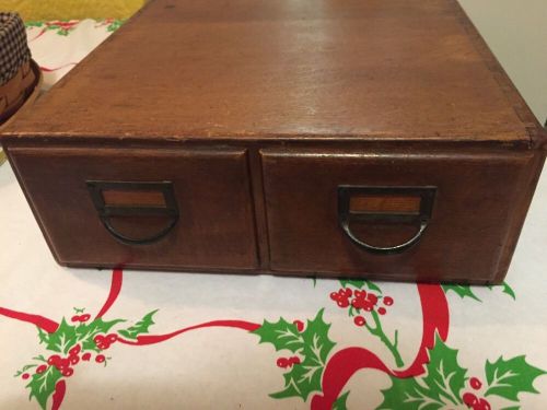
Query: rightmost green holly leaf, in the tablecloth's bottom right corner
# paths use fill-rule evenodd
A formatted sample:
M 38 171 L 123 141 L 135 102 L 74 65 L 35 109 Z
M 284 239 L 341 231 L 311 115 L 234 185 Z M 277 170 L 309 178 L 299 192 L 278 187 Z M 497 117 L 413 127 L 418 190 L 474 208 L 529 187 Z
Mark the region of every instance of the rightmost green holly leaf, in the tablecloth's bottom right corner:
M 485 373 L 488 383 L 485 396 L 496 395 L 513 401 L 519 400 L 520 393 L 538 393 L 533 386 L 534 380 L 547 374 L 526 363 L 524 355 L 508 361 L 500 356 L 493 363 L 487 361 Z

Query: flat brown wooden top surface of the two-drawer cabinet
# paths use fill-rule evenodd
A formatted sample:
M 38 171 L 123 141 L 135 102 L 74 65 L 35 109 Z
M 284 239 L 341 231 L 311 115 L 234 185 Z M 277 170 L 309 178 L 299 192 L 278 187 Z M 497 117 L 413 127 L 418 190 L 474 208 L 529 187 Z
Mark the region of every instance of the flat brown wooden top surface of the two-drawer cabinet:
M 155 0 L 5 134 L 511 145 L 534 129 L 455 0 Z

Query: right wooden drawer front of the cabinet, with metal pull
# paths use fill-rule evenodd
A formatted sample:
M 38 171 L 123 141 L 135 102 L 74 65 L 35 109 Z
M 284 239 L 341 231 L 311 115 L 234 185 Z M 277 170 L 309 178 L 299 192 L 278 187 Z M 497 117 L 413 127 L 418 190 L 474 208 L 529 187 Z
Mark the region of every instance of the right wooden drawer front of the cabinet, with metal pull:
M 493 278 L 531 156 L 261 152 L 271 268 Z

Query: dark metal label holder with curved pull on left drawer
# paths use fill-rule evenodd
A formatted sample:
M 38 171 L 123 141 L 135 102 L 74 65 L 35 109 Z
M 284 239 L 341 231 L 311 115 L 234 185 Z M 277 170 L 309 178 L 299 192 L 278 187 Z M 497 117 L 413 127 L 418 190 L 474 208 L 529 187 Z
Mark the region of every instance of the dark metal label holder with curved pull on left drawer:
M 173 184 L 88 180 L 91 199 L 106 230 L 127 245 L 153 244 L 165 237 L 178 221 Z M 112 220 L 124 216 L 165 216 L 161 231 L 144 237 L 129 237 L 113 226 Z

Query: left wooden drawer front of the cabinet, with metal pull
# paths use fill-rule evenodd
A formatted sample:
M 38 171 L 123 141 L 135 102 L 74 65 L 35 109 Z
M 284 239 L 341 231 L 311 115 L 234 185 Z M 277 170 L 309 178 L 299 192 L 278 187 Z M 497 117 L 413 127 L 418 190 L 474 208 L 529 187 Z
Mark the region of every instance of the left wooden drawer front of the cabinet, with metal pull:
M 257 266 L 244 150 L 11 148 L 59 262 Z

